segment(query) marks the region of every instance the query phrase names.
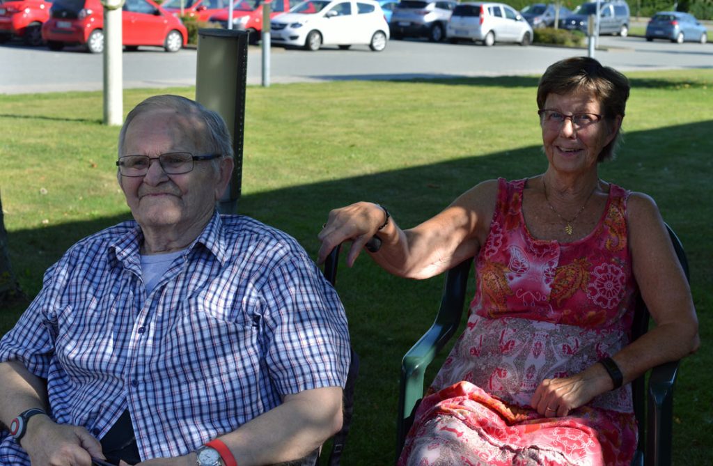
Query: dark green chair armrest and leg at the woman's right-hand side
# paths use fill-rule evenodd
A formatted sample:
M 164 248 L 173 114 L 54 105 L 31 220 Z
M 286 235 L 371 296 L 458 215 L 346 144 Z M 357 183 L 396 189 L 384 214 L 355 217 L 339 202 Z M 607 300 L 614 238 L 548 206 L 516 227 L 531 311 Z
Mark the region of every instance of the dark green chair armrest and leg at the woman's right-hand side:
M 678 361 L 657 365 L 651 370 L 647 396 L 646 464 L 671 464 L 673 386 Z

